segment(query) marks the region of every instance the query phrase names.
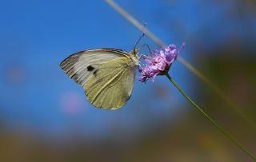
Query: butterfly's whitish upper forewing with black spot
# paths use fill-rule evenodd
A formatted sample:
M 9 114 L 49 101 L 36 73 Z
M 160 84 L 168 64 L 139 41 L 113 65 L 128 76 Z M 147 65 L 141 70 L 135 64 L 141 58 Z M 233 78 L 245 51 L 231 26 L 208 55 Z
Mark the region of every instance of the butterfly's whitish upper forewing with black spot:
M 71 79 L 83 86 L 100 65 L 128 55 L 122 49 L 90 49 L 70 55 L 60 66 Z

